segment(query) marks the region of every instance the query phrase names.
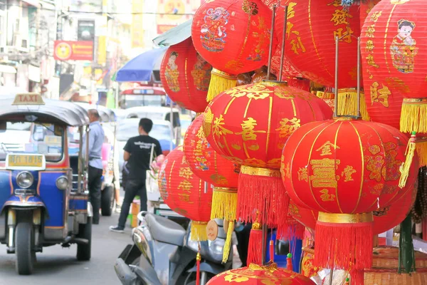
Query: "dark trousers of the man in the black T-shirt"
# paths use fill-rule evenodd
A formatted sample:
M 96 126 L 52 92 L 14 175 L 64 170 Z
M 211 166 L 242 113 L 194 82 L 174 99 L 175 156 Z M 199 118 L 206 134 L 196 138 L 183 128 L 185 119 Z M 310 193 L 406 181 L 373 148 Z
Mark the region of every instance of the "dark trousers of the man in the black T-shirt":
M 140 211 L 147 211 L 147 190 L 145 190 L 145 180 L 127 180 L 125 186 L 125 199 L 123 199 L 122 210 L 119 217 L 119 227 L 125 229 L 127 215 L 130 204 L 135 196 L 141 199 Z

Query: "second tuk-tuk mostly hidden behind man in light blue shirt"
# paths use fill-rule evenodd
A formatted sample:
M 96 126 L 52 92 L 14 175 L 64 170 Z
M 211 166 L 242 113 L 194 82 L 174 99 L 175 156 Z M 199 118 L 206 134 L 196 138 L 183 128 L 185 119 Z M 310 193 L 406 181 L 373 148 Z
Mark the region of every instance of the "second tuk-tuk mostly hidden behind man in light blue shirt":
M 91 105 L 88 103 L 76 103 L 85 110 L 95 109 L 100 115 L 100 123 L 104 130 L 105 138 L 102 144 L 102 186 L 101 186 L 101 214 L 102 216 L 111 216 L 115 207 L 116 191 L 120 191 L 119 175 L 119 150 L 116 140 L 116 116 L 115 112 L 102 105 Z M 70 129 L 70 128 L 69 128 Z M 72 133 L 69 131 L 69 133 Z M 78 133 L 73 133 L 73 136 Z M 69 149 L 74 150 L 76 155 L 77 143 L 73 139 L 68 140 Z M 70 152 L 71 153 L 71 152 Z

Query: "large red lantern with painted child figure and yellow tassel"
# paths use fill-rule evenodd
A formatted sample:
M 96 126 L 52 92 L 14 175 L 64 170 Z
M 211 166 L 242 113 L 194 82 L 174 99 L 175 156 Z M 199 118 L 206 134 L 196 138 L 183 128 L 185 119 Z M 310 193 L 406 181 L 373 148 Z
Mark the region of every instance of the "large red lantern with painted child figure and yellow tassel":
M 362 30 L 362 61 L 367 73 L 404 96 L 401 131 L 427 133 L 427 2 L 380 1 Z

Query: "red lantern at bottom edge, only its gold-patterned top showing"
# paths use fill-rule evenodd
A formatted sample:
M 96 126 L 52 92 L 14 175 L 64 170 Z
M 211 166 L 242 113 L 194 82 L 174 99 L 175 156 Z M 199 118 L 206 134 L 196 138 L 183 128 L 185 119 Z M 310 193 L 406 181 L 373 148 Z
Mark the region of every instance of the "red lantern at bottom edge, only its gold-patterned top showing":
M 308 277 L 272 263 L 265 266 L 250 264 L 247 267 L 224 271 L 212 278 L 206 285 L 315 285 Z

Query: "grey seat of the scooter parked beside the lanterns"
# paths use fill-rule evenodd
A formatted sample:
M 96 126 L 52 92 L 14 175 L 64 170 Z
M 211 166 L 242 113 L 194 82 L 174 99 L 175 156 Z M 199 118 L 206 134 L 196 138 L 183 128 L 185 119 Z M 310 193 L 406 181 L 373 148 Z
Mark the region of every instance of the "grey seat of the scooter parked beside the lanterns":
M 176 222 L 151 213 L 145 215 L 145 220 L 153 239 L 179 247 L 184 245 L 185 229 Z

